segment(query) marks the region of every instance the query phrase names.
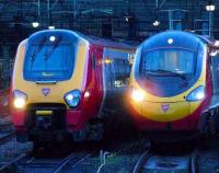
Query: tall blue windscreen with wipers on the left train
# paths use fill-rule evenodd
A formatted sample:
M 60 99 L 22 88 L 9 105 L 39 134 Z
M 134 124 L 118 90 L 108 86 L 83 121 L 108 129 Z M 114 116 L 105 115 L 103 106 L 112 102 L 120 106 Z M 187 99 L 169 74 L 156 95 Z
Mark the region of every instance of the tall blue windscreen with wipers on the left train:
M 74 64 L 70 43 L 31 44 L 24 62 L 24 79 L 64 81 L 71 78 Z

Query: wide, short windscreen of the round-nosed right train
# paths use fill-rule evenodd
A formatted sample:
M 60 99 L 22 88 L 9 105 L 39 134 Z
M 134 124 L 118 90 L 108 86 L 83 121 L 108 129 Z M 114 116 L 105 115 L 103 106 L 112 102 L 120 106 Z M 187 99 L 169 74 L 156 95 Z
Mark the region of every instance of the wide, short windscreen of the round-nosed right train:
M 154 49 L 142 53 L 140 72 L 191 76 L 195 72 L 195 53 L 187 49 Z

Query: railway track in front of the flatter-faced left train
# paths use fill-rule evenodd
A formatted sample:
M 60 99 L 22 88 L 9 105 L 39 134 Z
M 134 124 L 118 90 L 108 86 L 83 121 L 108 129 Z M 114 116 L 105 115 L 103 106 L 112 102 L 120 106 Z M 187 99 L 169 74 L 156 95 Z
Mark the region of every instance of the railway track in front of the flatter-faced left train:
M 22 154 L 0 168 L 0 172 L 16 173 L 64 173 L 71 172 L 74 166 L 94 152 L 72 152 L 64 159 L 35 159 Z

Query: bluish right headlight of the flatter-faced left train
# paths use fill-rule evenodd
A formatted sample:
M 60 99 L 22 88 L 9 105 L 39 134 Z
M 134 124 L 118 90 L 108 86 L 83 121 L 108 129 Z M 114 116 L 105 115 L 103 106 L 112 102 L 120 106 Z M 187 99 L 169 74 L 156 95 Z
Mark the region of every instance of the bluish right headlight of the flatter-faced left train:
M 64 99 L 70 107 L 77 107 L 81 100 L 81 92 L 79 90 L 72 90 L 68 92 Z

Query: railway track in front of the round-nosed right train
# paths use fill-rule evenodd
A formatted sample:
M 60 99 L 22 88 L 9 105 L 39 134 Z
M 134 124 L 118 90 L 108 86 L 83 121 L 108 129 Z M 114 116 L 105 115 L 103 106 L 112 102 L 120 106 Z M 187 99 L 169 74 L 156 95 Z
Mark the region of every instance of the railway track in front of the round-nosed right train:
M 139 159 L 137 160 L 134 169 L 132 169 L 132 173 L 147 173 L 147 169 L 146 165 L 149 162 L 149 160 L 154 157 L 155 154 L 148 150 L 146 152 L 143 152 Z M 157 166 L 159 168 L 153 168 L 154 171 L 150 171 L 150 172 L 154 172 L 154 173 L 160 173 L 162 172 L 162 170 L 169 170 L 171 173 L 175 173 L 177 172 L 180 169 L 182 169 L 181 166 L 178 166 L 178 164 L 176 162 L 172 162 L 171 160 L 168 160 L 163 155 L 158 155 L 159 158 L 162 158 L 161 160 L 164 160 L 162 163 L 157 163 Z M 187 170 L 187 173 L 199 173 L 199 151 L 198 150 L 194 150 L 191 154 L 182 158 L 182 159 L 187 159 L 186 163 L 187 165 L 184 168 L 184 170 Z M 177 170 L 178 169 L 178 170 Z

